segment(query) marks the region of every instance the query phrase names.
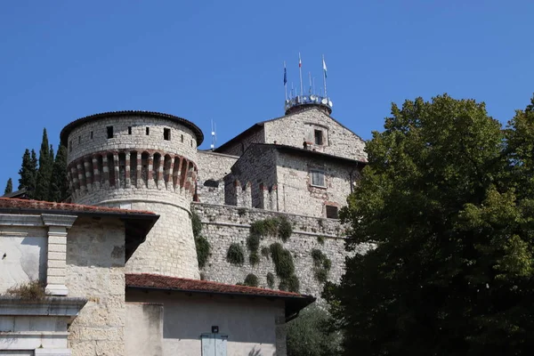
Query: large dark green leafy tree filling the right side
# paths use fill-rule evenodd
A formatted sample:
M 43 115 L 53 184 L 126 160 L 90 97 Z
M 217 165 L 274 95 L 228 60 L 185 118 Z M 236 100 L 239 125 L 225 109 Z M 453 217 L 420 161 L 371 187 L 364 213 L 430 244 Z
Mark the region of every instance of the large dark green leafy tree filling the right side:
M 345 355 L 534 350 L 533 123 L 448 95 L 392 105 L 342 210 L 347 248 L 371 249 L 324 293 Z

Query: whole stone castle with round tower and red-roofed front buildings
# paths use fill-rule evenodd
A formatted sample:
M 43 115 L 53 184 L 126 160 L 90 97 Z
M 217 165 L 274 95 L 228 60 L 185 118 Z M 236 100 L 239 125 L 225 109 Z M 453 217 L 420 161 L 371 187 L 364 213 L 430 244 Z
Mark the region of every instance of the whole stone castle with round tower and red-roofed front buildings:
M 365 142 L 331 106 L 296 97 L 283 117 L 206 151 L 197 125 L 168 114 L 117 111 L 66 125 L 75 204 L 0 204 L 2 234 L 13 235 L 9 244 L 0 236 L 0 248 L 41 254 L 31 268 L 6 257 L 20 276 L 0 278 L 0 292 L 34 276 L 48 295 L 72 296 L 53 330 L 65 337 L 63 353 L 28 354 L 286 354 L 283 325 L 343 274 L 338 211 L 367 161 Z M 200 266 L 195 216 L 210 251 Z M 34 246 L 47 255 L 24 247 L 20 233 L 39 238 Z M 290 271 L 277 264 L 282 257 Z M 249 276 L 256 287 L 235 286 Z M 102 303 L 109 295 L 115 302 Z M 18 310 L 15 302 L 0 298 L 0 321 L 3 303 Z M 111 334 L 93 337 L 102 328 Z M 112 351 L 99 353 L 98 340 Z

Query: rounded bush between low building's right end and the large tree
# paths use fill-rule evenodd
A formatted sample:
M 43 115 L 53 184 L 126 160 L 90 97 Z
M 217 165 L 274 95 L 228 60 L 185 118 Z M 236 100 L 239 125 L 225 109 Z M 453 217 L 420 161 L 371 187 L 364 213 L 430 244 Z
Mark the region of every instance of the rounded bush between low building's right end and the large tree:
M 339 332 L 329 328 L 330 314 L 316 304 L 287 323 L 287 356 L 331 356 L 341 352 Z

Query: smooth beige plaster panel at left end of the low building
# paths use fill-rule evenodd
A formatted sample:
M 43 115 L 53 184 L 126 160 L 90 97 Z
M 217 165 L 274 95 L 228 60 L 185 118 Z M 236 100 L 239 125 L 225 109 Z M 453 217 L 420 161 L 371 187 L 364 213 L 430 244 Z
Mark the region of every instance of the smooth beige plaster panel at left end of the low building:
M 163 304 L 126 303 L 125 354 L 163 354 Z

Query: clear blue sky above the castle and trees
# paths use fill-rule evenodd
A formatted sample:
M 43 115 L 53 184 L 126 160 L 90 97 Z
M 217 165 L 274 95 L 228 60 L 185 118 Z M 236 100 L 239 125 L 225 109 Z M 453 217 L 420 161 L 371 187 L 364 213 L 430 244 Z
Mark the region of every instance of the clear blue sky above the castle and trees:
M 531 1 L 26 1 L 0 4 L 0 172 L 18 185 L 43 127 L 54 148 L 77 117 L 122 109 L 195 122 L 218 145 L 283 114 L 289 83 L 321 85 L 364 139 L 392 102 L 485 101 L 505 123 L 534 92 Z M 304 80 L 305 81 L 305 80 Z

